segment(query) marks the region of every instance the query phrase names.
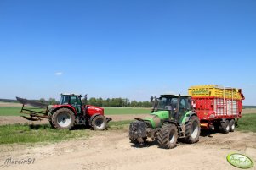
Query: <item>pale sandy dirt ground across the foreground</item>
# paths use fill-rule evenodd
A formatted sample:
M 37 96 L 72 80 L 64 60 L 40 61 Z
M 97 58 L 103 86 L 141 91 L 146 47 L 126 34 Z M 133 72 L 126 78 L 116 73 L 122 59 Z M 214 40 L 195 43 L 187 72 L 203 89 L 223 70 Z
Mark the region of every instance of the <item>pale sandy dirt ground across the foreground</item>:
M 132 145 L 128 129 L 94 132 L 89 139 L 63 141 L 58 144 L 0 145 L 0 168 L 3 169 L 238 169 L 226 156 L 231 152 L 246 153 L 256 160 L 256 134 L 234 132 L 201 136 L 199 143 L 179 143 L 172 150 L 163 150 L 153 142 L 145 147 Z M 30 165 L 4 165 L 7 158 L 32 158 Z M 251 168 L 251 169 L 254 169 Z

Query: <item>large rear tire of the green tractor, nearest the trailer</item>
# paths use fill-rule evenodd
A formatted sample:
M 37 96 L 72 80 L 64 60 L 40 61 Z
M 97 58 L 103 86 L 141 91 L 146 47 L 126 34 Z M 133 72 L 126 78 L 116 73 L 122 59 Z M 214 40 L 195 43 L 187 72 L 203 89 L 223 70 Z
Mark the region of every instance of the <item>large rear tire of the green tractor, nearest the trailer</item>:
M 188 123 L 185 124 L 185 138 L 187 144 L 194 144 L 199 141 L 201 127 L 197 116 L 192 116 Z

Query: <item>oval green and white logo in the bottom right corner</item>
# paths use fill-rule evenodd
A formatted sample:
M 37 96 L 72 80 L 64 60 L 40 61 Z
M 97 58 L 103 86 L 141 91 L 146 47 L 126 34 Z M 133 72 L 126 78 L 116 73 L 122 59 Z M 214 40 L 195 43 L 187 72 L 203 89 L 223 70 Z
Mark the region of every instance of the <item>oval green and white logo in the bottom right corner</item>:
M 230 153 L 227 156 L 227 161 L 235 167 L 247 169 L 253 167 L 254 161 L 249 156 L 242 155 L 240 153 Z

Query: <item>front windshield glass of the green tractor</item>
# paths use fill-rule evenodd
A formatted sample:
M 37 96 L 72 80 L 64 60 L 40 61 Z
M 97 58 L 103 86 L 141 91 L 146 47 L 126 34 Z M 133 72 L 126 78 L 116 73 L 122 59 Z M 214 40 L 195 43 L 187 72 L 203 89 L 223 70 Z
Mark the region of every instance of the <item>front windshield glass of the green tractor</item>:
M 175 110 L 178 98 L 160 97 L 156 104 L 156 110 Z

